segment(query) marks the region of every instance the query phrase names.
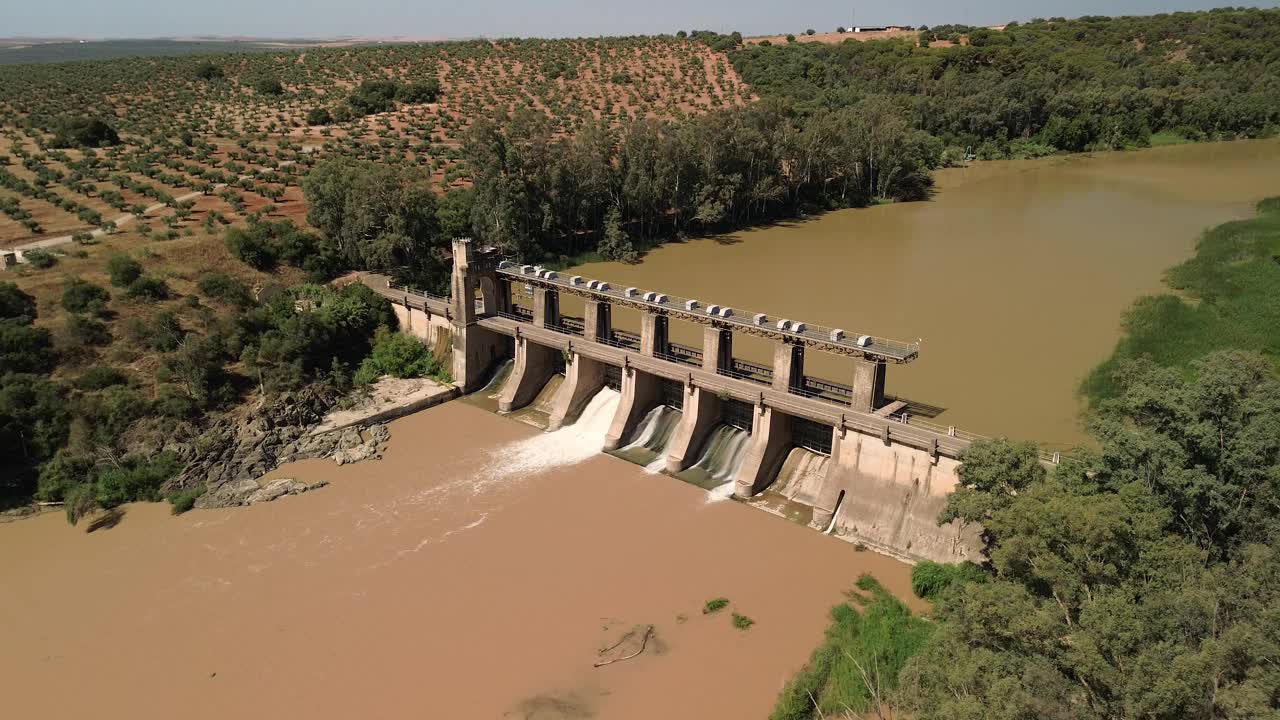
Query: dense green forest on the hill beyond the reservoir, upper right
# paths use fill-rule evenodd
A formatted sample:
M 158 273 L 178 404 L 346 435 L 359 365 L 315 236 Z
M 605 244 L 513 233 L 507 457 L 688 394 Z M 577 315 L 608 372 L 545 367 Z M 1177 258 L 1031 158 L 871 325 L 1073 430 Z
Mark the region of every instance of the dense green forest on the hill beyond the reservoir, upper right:
M 1280 126 L 1280 10 L 963 29 L 966 44 L 950 47 L 788 44 L 731 58 L 760 96 L 804 110 L 891 99 L 914 127 L 980 158 L 1146 146 L 1153 136 L 1256 137 Z

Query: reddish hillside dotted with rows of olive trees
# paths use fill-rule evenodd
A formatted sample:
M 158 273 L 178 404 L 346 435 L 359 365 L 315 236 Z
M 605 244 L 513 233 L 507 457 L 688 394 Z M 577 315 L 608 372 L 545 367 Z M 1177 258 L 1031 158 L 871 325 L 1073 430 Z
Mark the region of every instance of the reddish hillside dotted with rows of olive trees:
M 393 99 L 387 82 L 416 96 Z M 269 215 L 301 218 L 298 177 L 329 156 L 426 167 L 442 188 L 465 184 L 467 127 L 520 108 L 571 133 L 595 119 L 677 118 L 749 100 L 723 54 L 675 38 L 0 68 L 0 247 L 108 225 L 155 204 L 177 208 L 148 213 L 148 222 L 177 232 L 211 214 L 236 222 L 269 205 Z M 52 147 L 63 145 L 55 136 L 65 123 L 81 118 L 105 120 L 119 143 Z

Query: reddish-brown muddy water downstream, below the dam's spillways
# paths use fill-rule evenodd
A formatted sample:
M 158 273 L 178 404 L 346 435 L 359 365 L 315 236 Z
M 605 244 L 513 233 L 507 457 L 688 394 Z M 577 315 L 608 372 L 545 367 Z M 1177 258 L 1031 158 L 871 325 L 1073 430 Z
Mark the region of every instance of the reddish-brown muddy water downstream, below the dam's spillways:
M 333 483 L 300 497 L 0 525 L 5 715 L 759 717 L 859 574 L 910 594 L 896 561 L 616 457 L 504 470 L 538 437 L 453 402 L 383 460 L 273 473 Z M 703 616 L 718 596 L 756 624 Z M 593 667 L 637 624 L 660 655 Z

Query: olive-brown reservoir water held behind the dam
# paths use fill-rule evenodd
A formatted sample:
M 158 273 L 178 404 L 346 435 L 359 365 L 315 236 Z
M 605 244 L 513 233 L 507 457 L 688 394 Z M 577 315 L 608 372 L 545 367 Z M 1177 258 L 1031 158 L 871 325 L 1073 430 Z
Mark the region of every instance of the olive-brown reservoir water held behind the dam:
M 1277 193 L 1274 140 L 979 163 L 938 173 L 928 202 L 828 213 L 572 272 L 923 338 L 916 363 L 890 368 L 891 395 L 946 409 L 940 424 L 1066 447 L 1083 439 L 1076 388 L 1115 347 L 1124 311 L 1162 288 L 1202 231 Z M 614 324 L 639 329 L 625 310 Z M 701 347 L 700 331 L 684 323 L 672 340 Z M 736 343 L 737 356 L 772 363 L 763 342 Z M 810 352 L 805 365 L 850 380 L 847 361 Z

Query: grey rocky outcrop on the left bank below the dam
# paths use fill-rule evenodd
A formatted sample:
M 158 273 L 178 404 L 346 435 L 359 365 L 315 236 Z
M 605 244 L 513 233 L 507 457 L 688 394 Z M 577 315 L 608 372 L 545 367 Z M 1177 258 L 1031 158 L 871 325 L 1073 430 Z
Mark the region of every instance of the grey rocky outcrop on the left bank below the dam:
M 259 478 L 285 462 L 333 457 L 343 465 L 378 457 L 390 438 L 387 425 L 312 433 L 335 402 L 334 393 L 306 388 L 220 418 L 195 441 L 169 447 L 186 466 L 166 491 L 204 486 L 196 507 L 252 505 L 319 487 L 298 480 L 259 484 Z

